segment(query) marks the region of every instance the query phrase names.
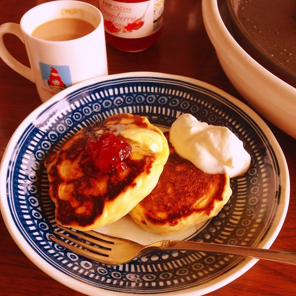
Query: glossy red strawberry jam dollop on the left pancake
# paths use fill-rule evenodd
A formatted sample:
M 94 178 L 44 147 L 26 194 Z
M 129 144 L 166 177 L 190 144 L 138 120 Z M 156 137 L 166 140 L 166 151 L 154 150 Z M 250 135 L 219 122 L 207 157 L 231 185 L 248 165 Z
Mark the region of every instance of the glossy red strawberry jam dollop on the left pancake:
M 115 168 L 125 171 L 125 158 L 131 155 L 131 147 L 114 133 L 106 132 L 100 138 L 87 142 L 85 152 L 95 166 L 103 173 L 109 173 Z

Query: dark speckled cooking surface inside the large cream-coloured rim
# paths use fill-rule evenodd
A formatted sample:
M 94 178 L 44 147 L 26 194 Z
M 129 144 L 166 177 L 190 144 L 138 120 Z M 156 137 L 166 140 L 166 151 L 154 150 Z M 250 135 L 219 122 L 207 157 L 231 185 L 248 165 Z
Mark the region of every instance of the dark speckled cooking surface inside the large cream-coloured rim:
M 296 1 L 226 0 L 218 5 L 225 25 L 241 47 L 296 88 Z

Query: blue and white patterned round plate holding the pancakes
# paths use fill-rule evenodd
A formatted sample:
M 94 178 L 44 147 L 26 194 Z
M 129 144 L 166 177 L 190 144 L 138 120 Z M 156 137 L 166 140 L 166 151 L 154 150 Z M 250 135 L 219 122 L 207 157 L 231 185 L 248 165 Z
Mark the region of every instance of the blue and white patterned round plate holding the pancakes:
M 187 239 L 269 248 L 284 222 L 289 172 L 278 142 L 249 107 L 198 80 L 135 72 L 94 78 L 55 95 L 13 134 L 1 165 L 1 212 L 11 236 L 39 268 L 88 295 L 203 295 L 233 281 L 257 260 L 214 253 L 151 252 L 128 264 L 99 264 L 69 252 L 49 236 L 56 226 L 44 158 L 67 135 L 114 113 L 137 113 L 169 128 L 181 113 L 227 126 L 251 154 L 249 171 L 231 179 L 233 194 L 203 225 L 174 236 L 145 232 L 129 217 L 99 231 L 150 243 Z

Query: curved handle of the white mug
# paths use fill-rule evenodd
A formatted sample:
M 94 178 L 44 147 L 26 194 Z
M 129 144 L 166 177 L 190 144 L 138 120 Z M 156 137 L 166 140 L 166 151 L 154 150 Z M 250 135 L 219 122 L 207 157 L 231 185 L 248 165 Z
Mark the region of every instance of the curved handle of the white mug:
M 6 33 L 11 33 L 19 37 L 21 41 L 24 43 L 23 33 L 21 31 L 21 27 L 19 24 L 15 23 L 5 23 L 0 26 L 0 57 L 1 59 L 15 72 L 23 75 L 27 79 L 35 82 L 33 71 L 31 68 L 26 67 L 19 61 L 17 61 L 6 49 L 3 42 L 3 35 Z

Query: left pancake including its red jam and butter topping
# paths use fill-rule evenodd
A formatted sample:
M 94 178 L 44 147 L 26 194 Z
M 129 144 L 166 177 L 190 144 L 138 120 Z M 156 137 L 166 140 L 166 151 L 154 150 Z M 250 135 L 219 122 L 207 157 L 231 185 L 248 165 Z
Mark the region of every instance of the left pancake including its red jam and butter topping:
M 116 114 L 80 130 L 45 161 L 57 223 L 85 231 L 125 216 L 156 186 L 168 155 L 146 117 Z

